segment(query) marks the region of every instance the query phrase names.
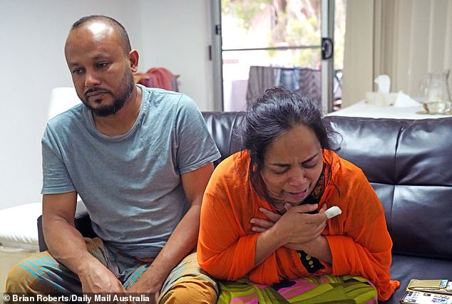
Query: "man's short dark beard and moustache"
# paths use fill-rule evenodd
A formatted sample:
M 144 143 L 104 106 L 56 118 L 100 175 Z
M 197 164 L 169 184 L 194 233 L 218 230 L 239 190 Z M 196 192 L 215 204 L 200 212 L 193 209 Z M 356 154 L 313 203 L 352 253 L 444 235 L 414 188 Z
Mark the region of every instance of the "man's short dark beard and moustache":
M 132 95 L 134 86 L 135 86 L 135 83 L 133 82 L 133 74 L 125 73 L 123 76 L 123 79 L 121 80 L 121 83 L 120 83 L 120 92 L 122 92 L 122 94 L 118 98 L 115 98 L 115 95 L 113 94 L 113 92 L 111 90 L 107 90 L 104 88 L 91 88 L 84 93 L 83 98 L 81 98 L 81 100 L 82 100 L 83 104 L 86 105 L 86 108 L 91 110 L 91 112 L 93 112 L 94 115 L 100 116 L 100 117 L 106 117 L 108 115 L 115 114 L 121 108 L 123 108 L 123 106 L 125 105 L 125 102 L 128 100 L 128 98 L 130 98 L 130 95 Z M 113 104 L 101 105 L 100 107 L 93 108 L 88 103 L 88 94 L 98 92 L 98 91 L 111 95 L 113 97 Z

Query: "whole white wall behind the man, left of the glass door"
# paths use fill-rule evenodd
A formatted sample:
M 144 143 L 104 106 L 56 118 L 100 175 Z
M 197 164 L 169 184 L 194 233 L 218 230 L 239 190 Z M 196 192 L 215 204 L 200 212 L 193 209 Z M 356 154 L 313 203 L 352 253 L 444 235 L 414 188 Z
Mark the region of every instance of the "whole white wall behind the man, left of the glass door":
M 63 46 L 81 16 L 128 30 L 141 71 L 180 74 L 180 91 L 212 110 L 208 0 L 0 0 L 0 209 L 41 201 L 41 136 L 51 90 L 72 86 Z

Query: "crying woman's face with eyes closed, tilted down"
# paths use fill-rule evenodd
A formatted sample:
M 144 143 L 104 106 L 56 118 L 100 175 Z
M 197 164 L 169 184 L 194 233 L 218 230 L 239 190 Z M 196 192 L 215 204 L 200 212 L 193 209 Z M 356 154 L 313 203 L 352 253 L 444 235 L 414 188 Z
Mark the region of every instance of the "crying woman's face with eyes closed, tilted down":
M 277 137 L 264 156 L 261 177 L 277 209 L 297 206 L 309 196 L 322 174 L 320 142 L 305 125 Z

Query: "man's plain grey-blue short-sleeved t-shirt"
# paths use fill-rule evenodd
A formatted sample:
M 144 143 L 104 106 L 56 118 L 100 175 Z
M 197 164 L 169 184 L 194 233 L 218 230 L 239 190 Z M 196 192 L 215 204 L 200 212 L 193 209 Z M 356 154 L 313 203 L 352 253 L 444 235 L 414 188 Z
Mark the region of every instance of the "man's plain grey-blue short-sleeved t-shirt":
M 190 98 L 140 88 L 140 115 L 125 135 L 98 132 L 83 104 L 48 122 L 41 193 L 77 192 L 103 241 L 149 258 L 158 255 L 190 206 L 181 174 L 218 159 L 220 152 Z

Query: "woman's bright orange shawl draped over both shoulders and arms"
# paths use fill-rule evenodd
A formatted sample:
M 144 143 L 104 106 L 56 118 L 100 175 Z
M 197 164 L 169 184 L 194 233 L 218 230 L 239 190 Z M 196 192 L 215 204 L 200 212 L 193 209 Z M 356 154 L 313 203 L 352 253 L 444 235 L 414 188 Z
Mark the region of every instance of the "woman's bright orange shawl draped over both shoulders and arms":
M 386 228 L 384 209 L 361 169 L 336 153 L 325 150 L 324 162 L 332 164 L 332 180 L 319 203 L 339 206 L 342 214 L 329 219 L 323 235 L 332 251 L 332 264 L 315 275 L 353 274 L 374 283 L 380 300 L 388 299 L 398 281 L 390 281 L 392 241 Z M 250 219 L 266 219 L 259 211 L 274 211 L 258 196 L 248 178 L 249 154 L 232 154 L 212 174 L 202 201 L 197 258 L 200 266 L 216 278 L 235 281 L 247 277 L 271 285 L 284 278 L 313 276 L 297 251 L 280 247 L 254 267 L 259 234 L 252 232 Z M 326 172 L 328 177 L 328 172 Z M 335 187 L 335 186 L 336 187 Z

